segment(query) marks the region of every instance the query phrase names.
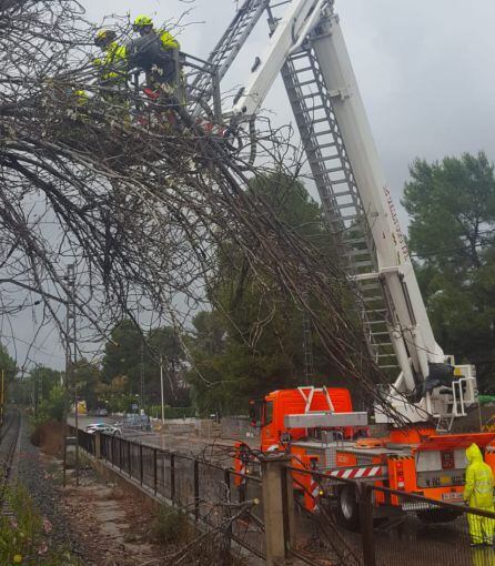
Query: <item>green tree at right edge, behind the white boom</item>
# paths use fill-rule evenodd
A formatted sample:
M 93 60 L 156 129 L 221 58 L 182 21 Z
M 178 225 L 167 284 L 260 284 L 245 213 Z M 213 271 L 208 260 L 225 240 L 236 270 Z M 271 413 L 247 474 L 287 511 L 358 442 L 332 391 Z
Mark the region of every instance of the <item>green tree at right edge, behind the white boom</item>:
M 416 160 L 404 190 L 410 247 L 435 335 L 494 392 L 495 178 L 484 153 Z

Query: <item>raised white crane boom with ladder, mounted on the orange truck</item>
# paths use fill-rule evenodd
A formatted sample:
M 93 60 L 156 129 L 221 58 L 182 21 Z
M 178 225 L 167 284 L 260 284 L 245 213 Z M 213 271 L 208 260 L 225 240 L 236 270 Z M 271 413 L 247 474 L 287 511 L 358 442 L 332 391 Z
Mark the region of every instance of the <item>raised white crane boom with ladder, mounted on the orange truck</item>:
M 452 424 L 476 401 L 474 368 L 453 371 L 433 335 L 333 3 L 283 2 L 279 19 L 267 3 L 269 44 L 226 115 L 250 120 L 282 72 L 329 223 L 361 292 L 370 348 L 378 365 L 398 364 L 388 402 L 412 422 Z M 378 407 L 376 418 L 388 417 Z

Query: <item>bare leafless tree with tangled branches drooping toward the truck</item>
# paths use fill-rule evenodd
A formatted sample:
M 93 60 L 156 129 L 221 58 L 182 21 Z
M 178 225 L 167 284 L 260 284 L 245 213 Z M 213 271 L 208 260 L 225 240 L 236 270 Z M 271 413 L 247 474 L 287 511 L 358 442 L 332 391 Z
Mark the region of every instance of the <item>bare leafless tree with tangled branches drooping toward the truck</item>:
M 0 26 L 4 316 L 23 291 L 62 336 L 68 300 L 92 341 L 122 317 L 186 332 L 192 313 L 215 303 L 218 251 L 232 242 L 266 296 L 282 290 L 305 310 L 333 365 L 380 397 L 382 375 L 350 313 L 354 289 L 339 261 L 245 190 L 253 175 L 300 174 L 289 130 L 264 121 L 254 135 L 239 134 L 249 139 L 245 151 L 232 151 L 176 100 L 151 101 L 132 89 L 109 95 L 91 64 L 94 27 L 77 2 L 9 2 Z M 266 320 L 253 321 L 253 350 Z

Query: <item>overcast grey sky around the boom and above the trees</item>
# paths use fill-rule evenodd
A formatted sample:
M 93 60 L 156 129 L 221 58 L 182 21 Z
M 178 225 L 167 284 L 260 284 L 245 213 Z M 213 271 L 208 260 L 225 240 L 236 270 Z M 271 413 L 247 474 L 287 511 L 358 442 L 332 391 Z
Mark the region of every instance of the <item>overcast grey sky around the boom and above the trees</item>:
M 149 14 L 158 23 L 189 10 L 181 31 L 182 49 L 206 58 L 232 19 L 233 0 L 82 0 L 88 18 L 129 12 Z M 239 2 L 241 3 L 241 2 Z M 495 2 L 493 0 L 337 0 L 336 11 L 361 85 L 385 176 L 396 204 L 415 156 L 485 150 L 495 159 Z M 245 46 L 225 88 L 242 83 L 266 41 L 265 19 Z M 291 120 L 281 82 L 265 108 L 277 121 Z M 401 211 L 403 226 L 407 219 Z M 32 322 L 18 321 L 16 332 L 29 342 Z M 58 338 L 41 338 L 31 357 L 61 367 Z M 9 348 L 12 351 L 11 346 Z M 26 345 L 17 343 L 20 360 Z

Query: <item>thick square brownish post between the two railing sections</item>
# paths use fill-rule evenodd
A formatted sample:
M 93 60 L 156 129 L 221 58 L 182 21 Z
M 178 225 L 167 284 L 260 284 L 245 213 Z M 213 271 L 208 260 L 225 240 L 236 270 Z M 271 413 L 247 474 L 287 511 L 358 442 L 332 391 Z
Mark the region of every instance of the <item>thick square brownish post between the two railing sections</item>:
M 293 497 L 292 486 L 289 493 L 283 488 L 285 479 L 285 465 L 291 457 L 285 454 L 265 455 L 261 461 L 262 497 L 264 529 L 266 544 L 266 565 L 283 564 L 286 557 L 289 540 L 285 540 L 284 525 L 291 525 L 293 519 L 284 517 L 291 506 L 287 501 Z M 292 507 L 293 509 L 293 507 Z

